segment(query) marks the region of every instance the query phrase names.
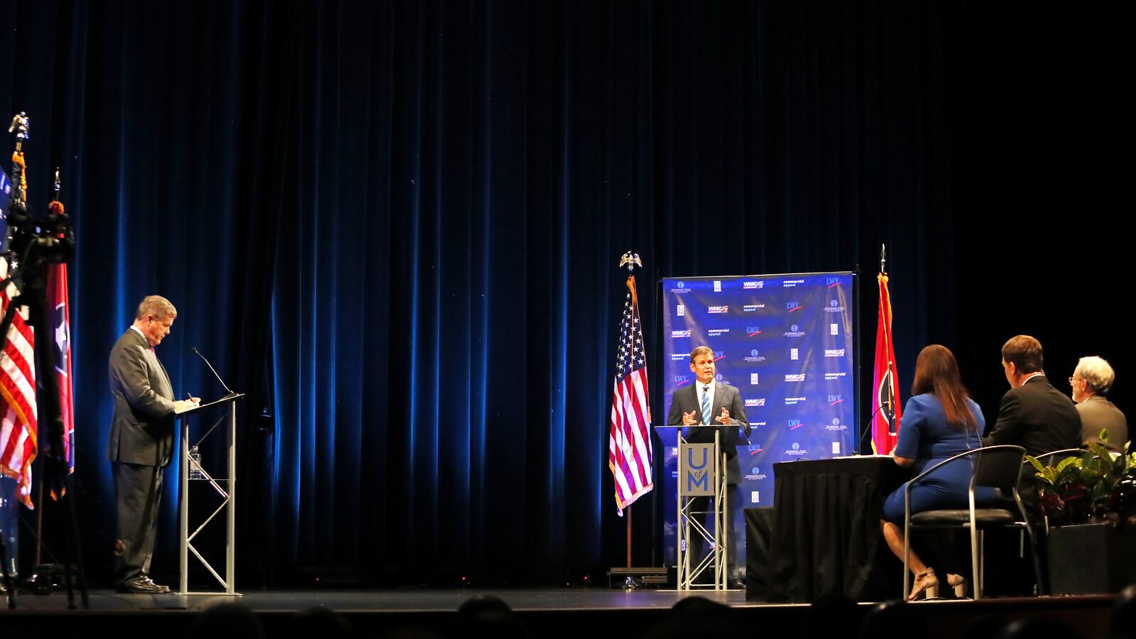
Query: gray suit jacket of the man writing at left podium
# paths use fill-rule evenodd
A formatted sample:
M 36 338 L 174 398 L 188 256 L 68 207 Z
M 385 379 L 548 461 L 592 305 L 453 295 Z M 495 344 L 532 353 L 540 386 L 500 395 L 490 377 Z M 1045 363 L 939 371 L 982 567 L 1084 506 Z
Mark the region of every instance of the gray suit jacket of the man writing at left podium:
M 165 466 L 174 448 L 174 389 L 144 337 L 127 329 L 110 350 L 115 412 L 107 457 Z

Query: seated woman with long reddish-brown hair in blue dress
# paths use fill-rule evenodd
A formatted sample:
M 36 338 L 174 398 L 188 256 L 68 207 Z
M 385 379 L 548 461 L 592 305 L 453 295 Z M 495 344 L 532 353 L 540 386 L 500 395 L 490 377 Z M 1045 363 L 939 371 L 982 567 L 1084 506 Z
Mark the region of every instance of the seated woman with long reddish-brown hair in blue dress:
M 895 463 L 912 468 L 918 475 L 935 464 L 967 450 L 982 447 L 979 434 L 986 425 L 983 412 L 968 397 L 959 376 L 959 364 L 946 347 L 930 345 L 916 360 L 916 381 L 911 398 L 903 406 L 899 441 L 892 455 Z M 911 489 L 911 513 L 944 508 L 966 508 L 974 462 L 969 458 L 946 464 L 927 475 Z M 903 490 L 901 486 L 884 500 L 884 539 L 895 556 L 903 559 Z M 976 501 L 995 499 L 993 489 L 976 489 Z M 914 573 L 914 584 L 908 599 L 926 592 L 937 594 L 938 578 L 912 549 L 909 565 Z M 947 574 L 947 583 L 962 588 L 966 580 Z

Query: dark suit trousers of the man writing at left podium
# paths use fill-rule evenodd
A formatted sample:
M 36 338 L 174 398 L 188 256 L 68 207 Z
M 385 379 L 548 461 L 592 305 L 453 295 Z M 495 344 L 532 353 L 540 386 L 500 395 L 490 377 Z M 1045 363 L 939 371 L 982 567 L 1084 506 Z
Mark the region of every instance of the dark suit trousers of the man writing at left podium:
M 150 572 L 161 501 L 161 466 L 114 463 L 118 541 L 115 579 L 126 581 Z

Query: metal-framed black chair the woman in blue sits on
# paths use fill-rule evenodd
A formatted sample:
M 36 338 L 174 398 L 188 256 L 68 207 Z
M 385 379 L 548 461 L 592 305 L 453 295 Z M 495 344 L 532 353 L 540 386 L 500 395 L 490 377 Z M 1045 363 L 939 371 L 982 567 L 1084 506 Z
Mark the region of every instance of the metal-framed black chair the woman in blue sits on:
M 972 458 L 972 459 L 971 459 Z M 979 530 L 989 528 L 1025 529 L 1029 536 L 1029 549 L 1034 557 L 1034 572 L 1037 575 L 1038 591 L 1043 586 L 1042 567 L 1037 557 L 1037 542 L 1034 530 L 1029 525 L 1026 507 L 1018 495 L 1018 479 L 1021 476 L 1021 465 L 1026 458 L 1026 449 L 1020 446 L 987 446 L 967 453 L 960 453 L 950 459 L 927 468 L 908 482 L 903 489 L 903 597 L 907 597 L 911 571 L 908 559 L 911 554 L 911 531 L 917 528 L 969 529 L 970 530 L 970 569 L 971 581 L 975 584 L 975 599 L 982 598 L 983 583 L 979 557 Z M 911 513 L 911 487 L 939 466 L 952 463 L 971 463 L 974 472 L 970 475 L 968 489 L 969 508 L 952 511 L 924 511 Z M 991 487 L 1013 492 L 1013 501 L 1018 513 L 1004 508 L 976 508 L 975 488 Z

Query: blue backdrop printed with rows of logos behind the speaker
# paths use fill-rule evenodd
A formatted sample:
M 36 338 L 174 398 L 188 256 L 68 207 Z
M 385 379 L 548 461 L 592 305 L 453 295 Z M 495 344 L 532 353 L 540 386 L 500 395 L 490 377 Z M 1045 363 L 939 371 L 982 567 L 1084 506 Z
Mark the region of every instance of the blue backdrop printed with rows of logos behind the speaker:
M 855 309 L 852 273 L 662 280 L 662 384 L 655 424 L 673 393 L 694 382 L 691 351 L 715 351 L 718 381 L 736 387 L 753 428 L 738 446 L 742 483 L 734 514 L 745 566 L 742 508 L 772 506 L 778 462 L 851 455 L 857 442 Z M 663 546 L 674 565 L 678 457 L 675 429 L 660 429 Z

